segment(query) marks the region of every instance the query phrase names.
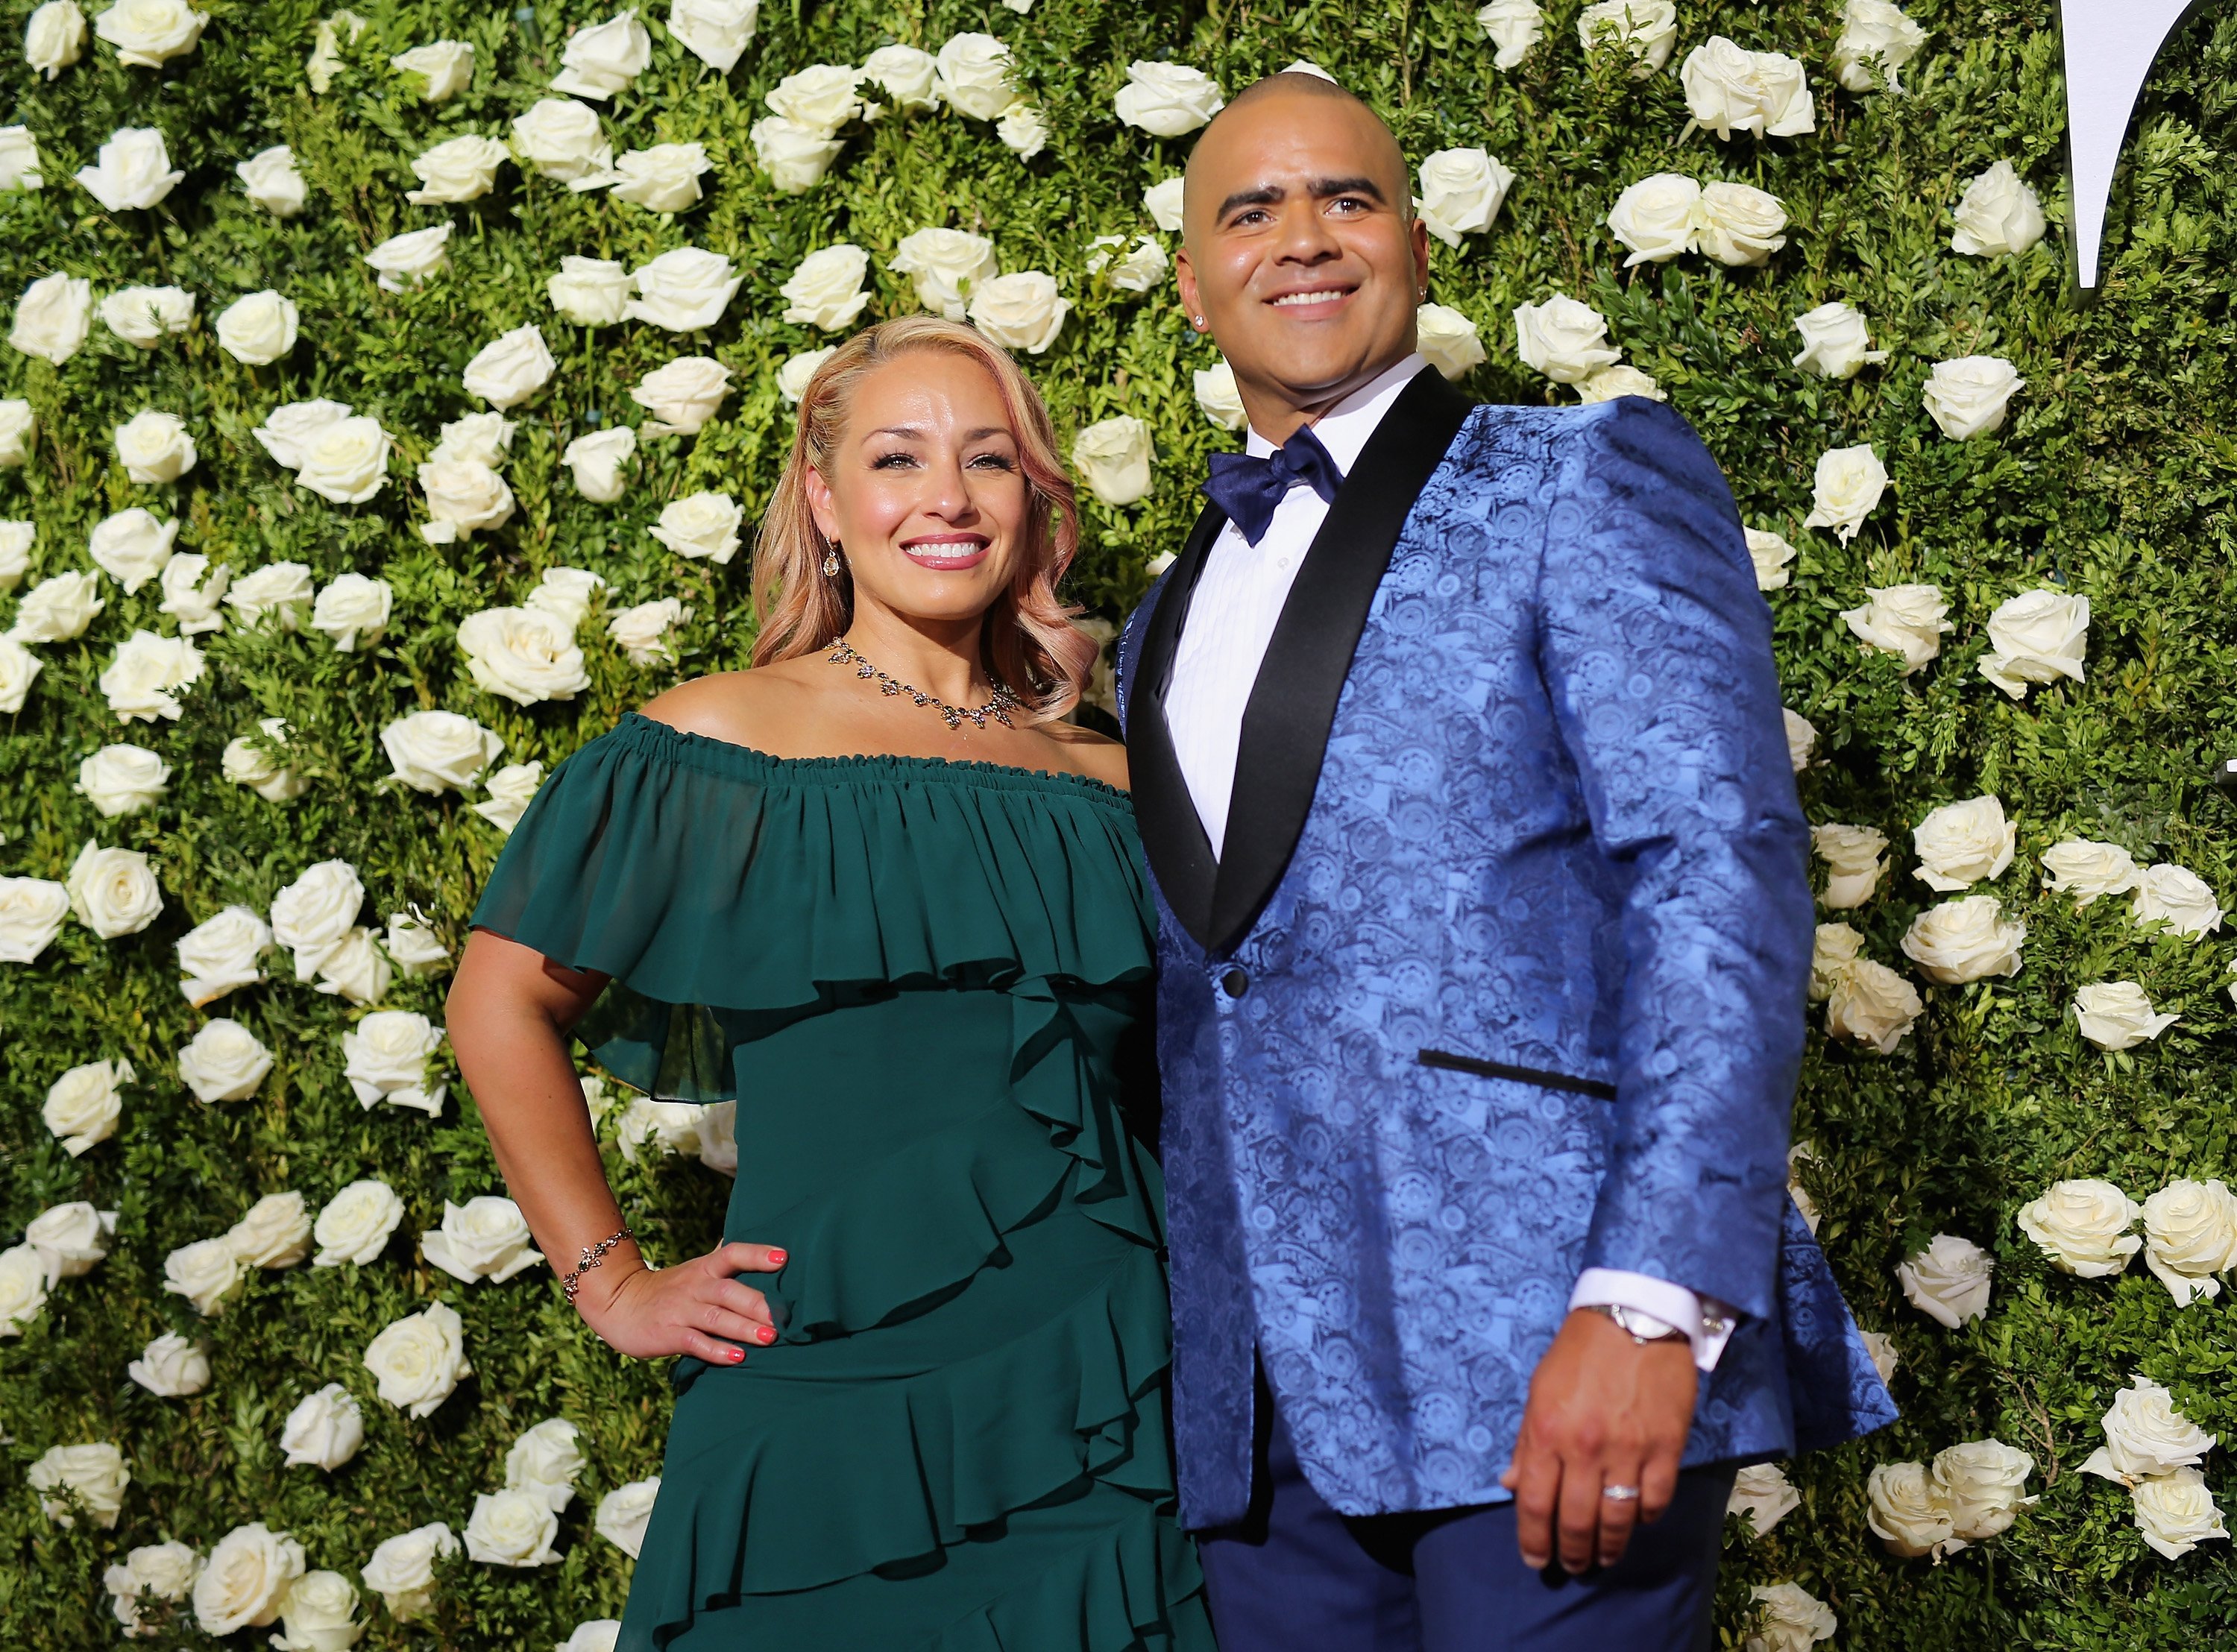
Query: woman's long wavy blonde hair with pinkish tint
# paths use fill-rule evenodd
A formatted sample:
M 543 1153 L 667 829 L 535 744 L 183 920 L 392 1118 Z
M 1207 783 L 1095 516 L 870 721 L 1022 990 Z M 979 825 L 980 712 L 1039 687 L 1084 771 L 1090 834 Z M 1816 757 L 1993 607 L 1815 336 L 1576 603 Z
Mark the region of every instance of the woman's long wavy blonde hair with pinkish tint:
M 863 376 L 913 351 L 964 355 L 987 369 L 1002 396 L 1009 431 L 1027 483 L 1025 554 L 1009 588 L 987 610 L 980 637 L 982 666 L 1018 697 L 1033 722 L 1065 715 L 1087 686 L 1098 646 L 1074 621 L 1078 606 L 1056 595 L 1080 543 L 1072 476 L 1056 452 L 1056 427 L 1031 380 L 1009 353 L 962 322 L 906 315 L 855 333 L 808 380 L 792 454 L 776 478 L 776 496 L 754 545 L 752 664 L 828 648 L 855 619 L 855 581 L 841 566 L 823 575 L 830 541 L 808 507 L 808 472 L 825 481 L 846 434 L 848 411 Z

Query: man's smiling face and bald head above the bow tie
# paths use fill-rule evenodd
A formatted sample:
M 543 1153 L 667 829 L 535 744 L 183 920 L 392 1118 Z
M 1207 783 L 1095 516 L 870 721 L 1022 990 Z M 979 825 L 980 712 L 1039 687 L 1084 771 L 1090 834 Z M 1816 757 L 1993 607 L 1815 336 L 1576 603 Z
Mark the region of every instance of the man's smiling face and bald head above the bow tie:
M 1405 156 L 1367 105 L 1268 87 L 1197 141 L 1181 297 L 1282 440 L 1414 349 L 1427 228 Z

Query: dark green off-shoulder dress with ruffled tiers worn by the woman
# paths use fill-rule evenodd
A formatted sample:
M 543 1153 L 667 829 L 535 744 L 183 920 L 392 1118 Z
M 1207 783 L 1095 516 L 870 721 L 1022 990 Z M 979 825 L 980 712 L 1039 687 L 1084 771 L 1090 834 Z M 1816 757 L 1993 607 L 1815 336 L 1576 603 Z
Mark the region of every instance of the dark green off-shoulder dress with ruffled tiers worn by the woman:
M 673 1368 L 622 1652 L 1210 1652 L 1123 791 L 631 711 L 470 923 L 613 977 L 577 1037 L 624 1084 L 736 1098 L 723 1232 L 787 1252 L 743 1274 L 778 1341 Z

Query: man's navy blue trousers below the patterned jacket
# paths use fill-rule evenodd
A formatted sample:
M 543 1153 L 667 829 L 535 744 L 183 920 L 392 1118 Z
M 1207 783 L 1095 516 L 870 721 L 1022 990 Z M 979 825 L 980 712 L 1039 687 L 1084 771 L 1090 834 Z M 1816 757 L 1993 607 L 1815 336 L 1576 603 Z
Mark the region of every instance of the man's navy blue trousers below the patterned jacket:
M 1219 1652 L 1705 1652 L 1738 1464 L 1678 1475 L 1613 1567 L 1523 1567 L 1514 1504 L 1344 1516 L 1297 1466 L 1264 1384 L 1250 1513 L 1199 1531 Z

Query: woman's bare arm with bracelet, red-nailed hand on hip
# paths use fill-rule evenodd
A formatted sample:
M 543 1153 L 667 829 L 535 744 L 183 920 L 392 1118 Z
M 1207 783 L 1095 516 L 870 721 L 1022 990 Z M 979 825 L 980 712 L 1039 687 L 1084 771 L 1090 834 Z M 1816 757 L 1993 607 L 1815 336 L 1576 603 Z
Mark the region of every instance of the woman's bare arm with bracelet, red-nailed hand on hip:
M 622 1229 L 568 1055 L 568 1033 L 606 979 L 472 930 L 445 1008 L 459 1075 L 481 1109 L 497 1167 L 559 1276 L 586 1245 Z M 734 1274 L 776 1272 L 783 1263 L 785 1254 L 767 1245 L 723 1243 L 678 1268 L 651 1270 L 638 1243 L 624 1238 L 582 1276 L 575 1310 L 624 1355 L 698 1355 L 731 1366 L 745 1359 L 740 1341 L 776 1341 L 767 1301 Z

